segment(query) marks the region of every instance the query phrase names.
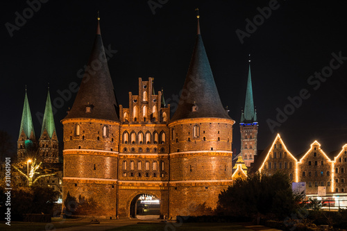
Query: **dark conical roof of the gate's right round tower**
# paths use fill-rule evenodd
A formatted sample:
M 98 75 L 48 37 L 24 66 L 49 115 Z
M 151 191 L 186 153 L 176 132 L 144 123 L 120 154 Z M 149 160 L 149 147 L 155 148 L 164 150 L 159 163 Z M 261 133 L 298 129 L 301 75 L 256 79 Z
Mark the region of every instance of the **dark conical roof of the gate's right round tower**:
M 198 22 L 198 33 L 185 85 L 171 121 L 201 117 L 231 119 L 221 104 Z

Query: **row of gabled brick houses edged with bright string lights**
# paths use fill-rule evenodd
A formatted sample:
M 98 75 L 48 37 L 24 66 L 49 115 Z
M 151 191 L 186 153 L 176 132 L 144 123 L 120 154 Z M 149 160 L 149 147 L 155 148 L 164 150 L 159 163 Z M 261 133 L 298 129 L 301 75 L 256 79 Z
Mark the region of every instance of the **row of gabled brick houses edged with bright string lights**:
M 317 194 L 318 187 L 323 186 L 327 194 L 341 195 L 347 190 L 346 167 L 347 144 L 339 151 L 326 154 L 321 144 L 314 141 L 307 152 L 294 156 L 279 134 L 254 165 L 257 171 L 266 175 L 282 171 L 293 182 L 306 182 L 306 194 Z

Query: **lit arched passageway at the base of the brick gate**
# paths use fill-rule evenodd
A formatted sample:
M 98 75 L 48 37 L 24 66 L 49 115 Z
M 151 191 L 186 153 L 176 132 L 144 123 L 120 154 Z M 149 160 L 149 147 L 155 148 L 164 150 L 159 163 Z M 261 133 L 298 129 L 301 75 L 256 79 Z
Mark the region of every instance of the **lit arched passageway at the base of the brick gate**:
M 158 219 L 160 199 L 153 194 L 137 194 L 130 203 L 130 218 Z

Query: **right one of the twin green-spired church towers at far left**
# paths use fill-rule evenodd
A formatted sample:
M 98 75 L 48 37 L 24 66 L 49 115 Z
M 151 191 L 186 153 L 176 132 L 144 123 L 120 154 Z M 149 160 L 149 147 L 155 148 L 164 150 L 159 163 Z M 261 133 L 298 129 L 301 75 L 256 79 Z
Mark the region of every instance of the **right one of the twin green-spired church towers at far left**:
M 46 107 L 39 139 L 39 156 L 44 163 L 58 163 L 58 136 L 53 118 L 51 96 L 47 93 Z

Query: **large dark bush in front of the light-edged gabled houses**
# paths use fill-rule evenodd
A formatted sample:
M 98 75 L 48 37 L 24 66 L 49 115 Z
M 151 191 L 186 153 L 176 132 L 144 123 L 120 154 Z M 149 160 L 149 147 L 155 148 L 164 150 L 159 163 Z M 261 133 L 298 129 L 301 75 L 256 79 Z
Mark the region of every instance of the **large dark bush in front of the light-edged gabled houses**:
M 219 194 L 219 210 L 231 216 L 259 214 L 283 219 L 296 211 L 301 196 L 291 191 L 287 175 L 277 172 L 272 176 L 254 174 L 246 180 L 238 179 Z

